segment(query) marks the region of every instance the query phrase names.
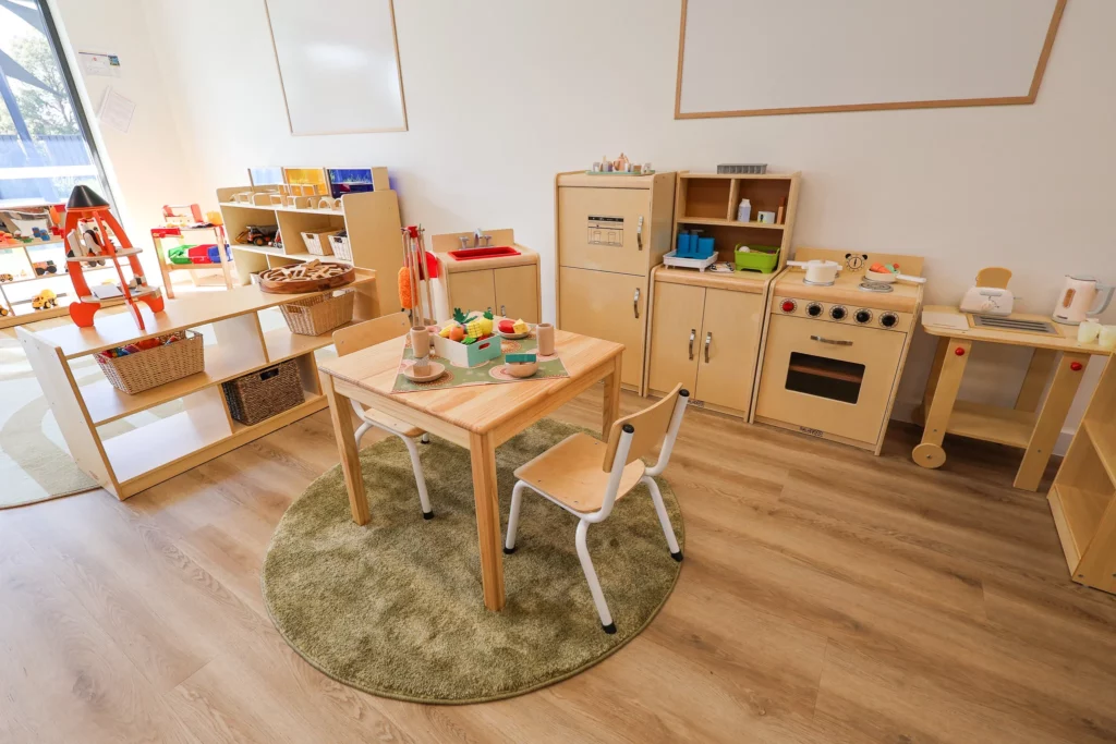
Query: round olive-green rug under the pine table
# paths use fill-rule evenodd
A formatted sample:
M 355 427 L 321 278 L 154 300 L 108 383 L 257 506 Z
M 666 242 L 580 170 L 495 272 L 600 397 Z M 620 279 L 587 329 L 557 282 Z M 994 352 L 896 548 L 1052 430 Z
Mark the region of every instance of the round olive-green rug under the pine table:
M 512 471 L 579 429 L 543 419 L 497 450 L 501 531 Z M 396 437 L 360 452 L 372 520 L 349 516 L 340 465 L 310 484 L 276 529 L 261 584 L 271 619 L 334 679 L 419 703 L 481 703 L 570 677 L 615 653 L 655 617 L 679 578 L 645 486 L 589 529 L 617 632 L 600 628 L 574 545 L 577 519 L 525 493 L 517 550 L 503 557 L 508 603 L 484 609 L 469 452 L 420 445 L 434 519 L 422 519 Z M 682 514 L 658 480 L 683 544 Z M 684 545 L 683 545 L 684 549 Z

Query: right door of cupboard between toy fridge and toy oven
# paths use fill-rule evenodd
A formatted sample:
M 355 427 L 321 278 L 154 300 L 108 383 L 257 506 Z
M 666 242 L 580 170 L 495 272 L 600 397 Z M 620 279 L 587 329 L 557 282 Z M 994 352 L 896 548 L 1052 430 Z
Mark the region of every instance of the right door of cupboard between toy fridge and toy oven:
M 698 338 L 700 400 L 748 415 L 763 328 L 763 296 L 710 289 Z

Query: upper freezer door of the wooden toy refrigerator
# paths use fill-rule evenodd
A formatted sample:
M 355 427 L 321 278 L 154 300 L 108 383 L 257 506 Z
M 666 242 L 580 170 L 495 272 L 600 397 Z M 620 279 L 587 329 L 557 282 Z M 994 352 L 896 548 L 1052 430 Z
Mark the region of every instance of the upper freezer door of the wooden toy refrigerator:
M 651 191 L 558 190 L 558 259 L 564 267 L 646 273 L 651 255 Z

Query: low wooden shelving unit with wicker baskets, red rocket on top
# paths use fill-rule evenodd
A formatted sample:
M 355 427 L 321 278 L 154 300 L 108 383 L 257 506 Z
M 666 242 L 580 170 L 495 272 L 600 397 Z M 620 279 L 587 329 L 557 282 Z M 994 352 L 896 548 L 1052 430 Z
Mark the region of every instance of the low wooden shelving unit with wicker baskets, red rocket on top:
M 374 317 L 378 307 L 375 273 L 357 271 L 354 322 Z M 118 499 L 127 499 L 208 460 L 325 408 L 315 352 L 333 344 L 331 334 L 299 336 L 286 327 L 264 331 L 259 313 L 285 302 L 314 297 L 266 294 L 257 287 L 167 300 L 163 312 L 144 309 L 147 329 L 129 315 L 97 318 L 93 328 L 67 325 L 35 332 L 17 330 L 31 368 L 83 471 Z M 174 331 L 200 330 L 205 339 L 204 371 L 127 395 L 105 379 L 78 385 L 74 359 Z M 253 426 L 232 419 L 221 383 L 296 359 L 306 400 Z M 122 434 L 106 424 L 181 399 L 183 408 Z

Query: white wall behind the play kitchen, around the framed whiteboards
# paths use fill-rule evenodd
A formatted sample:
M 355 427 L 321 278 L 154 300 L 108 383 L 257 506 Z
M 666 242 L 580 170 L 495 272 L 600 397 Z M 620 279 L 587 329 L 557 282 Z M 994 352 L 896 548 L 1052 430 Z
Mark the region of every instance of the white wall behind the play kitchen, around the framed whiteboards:
M 71 35 L 98 47 L 116 16 L 138 6 L 57 1 Z M 395 0 L 411 131 L 309 137 L 287 129 L 263 0 L 144 9 L 166 76 L 156 87 L 175 91 L 167 98 L 182 134 L 110 143 L 114 161 L 140 152 L 150 168 L 152 153 L 181 152 L 201 189 L 184 199 L 203 203 L 217 186 L 243 183 L 251 165 L 386 165 L 405 220 L 432 232 L 511 226 L 539 249 L 550 315 L 554 174 L 622 149 L 660 170 L 759 161 L 801 171 L 795 243 L 925 255 L 930 302 L 955 303 L 984 265 L 1011 268 L 1021 309 L 1035 312 L 1050 310 L 1066 271 L 1116 281 L 1109 0 L 1069 3 L 1033 106 L 685 122 L 673 118 L 677 0 Z M 132 42 L 135 22 L 119 44 Z M 604 33 L 625 41 L 597 41 Z M 743 46 L 740 60 L 730 74 L 748 74 Z M 129 201 L 143 187 L 133 183 L 122 184 Z M 1106 319 L 1116 322 L 1116 311 Z M 899 412 L 921 395 L 931 351 L 920 334 Z M 1013 400 L 1026 356 L 982 350 L 972 365 L 964 395 Z

